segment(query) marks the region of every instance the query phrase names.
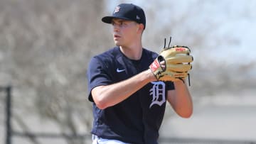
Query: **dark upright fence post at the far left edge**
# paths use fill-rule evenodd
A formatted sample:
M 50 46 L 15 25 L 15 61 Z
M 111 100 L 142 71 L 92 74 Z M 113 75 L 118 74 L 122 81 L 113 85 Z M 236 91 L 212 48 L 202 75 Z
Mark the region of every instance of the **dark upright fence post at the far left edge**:
M 11 86 L 6 87 L 6 144 L 11 144 Z

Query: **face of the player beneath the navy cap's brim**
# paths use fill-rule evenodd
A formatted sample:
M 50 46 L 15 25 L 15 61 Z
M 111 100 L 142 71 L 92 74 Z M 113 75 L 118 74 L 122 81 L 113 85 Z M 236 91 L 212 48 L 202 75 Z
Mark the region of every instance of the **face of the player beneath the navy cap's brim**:
M 138 38 L 139 24 L 134 21 L 113 18 L 112 26 L 115 45 L 128 46 L 135 38 Z

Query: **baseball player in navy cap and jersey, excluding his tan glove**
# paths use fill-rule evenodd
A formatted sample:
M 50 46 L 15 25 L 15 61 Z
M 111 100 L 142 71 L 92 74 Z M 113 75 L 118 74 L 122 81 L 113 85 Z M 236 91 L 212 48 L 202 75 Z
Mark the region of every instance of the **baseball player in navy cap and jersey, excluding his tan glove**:
M 139 6 L 119 4 L 102 21 L 112 24 L 117 46 L 92 57 L 87 71 L 92 143 L 156 144 L 166 100 L 179 116 L 191 116 L 188 88 L 182 80 L 156 81 L 149 65 L 158 55 L 142 47 L 146 18 Z

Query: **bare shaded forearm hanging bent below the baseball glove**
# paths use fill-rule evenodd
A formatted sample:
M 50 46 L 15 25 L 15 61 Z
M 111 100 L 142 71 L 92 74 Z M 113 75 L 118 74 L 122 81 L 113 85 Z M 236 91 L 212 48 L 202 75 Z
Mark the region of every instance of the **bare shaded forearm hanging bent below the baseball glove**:
M 168 101 L 174 111 L 183 118 L 189 118 L 193 113 L 193 101 L 188 87 L 181 81 L 174 82 L 174 91 L 168 93 Z

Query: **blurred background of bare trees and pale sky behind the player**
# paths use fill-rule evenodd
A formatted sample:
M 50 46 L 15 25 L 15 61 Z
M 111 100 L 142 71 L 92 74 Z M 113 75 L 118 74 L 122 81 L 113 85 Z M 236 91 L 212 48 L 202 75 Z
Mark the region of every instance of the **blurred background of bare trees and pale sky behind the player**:
M 194 57 L 193 116 L 167 106 L 160 143 L 256 143 L 255 0 L 0 0 L 0 143 L 6 125 L 14 144 L 91 143 L 87 64 L 114 46 L 101 18 L 122 2 L 146 13 L 144 48 L 171 36 Z

